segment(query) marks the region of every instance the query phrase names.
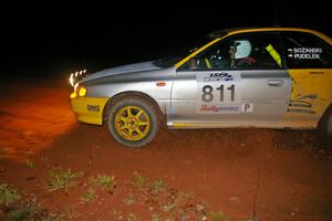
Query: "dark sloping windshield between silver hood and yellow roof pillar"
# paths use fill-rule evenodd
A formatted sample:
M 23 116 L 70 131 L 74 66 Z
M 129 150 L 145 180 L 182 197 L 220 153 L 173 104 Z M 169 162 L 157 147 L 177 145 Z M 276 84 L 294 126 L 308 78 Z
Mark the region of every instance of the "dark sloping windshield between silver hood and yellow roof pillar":
M 174 53 L 172 55 L 155 61 L 154 64 L 159 67 L 174 66 L 176 63 L 178 63 L 179 61 L 181 61 L 183 59 L 185 59 L 186 56 L 188 56 L 189 54 L 197 51 L 198 49 L 200 49 L 201 46 L 204 46 L 205 44 L 209 43 L 214 38 L 211 36 L 203 38 L 200 39 L 199 42 L 196 41 L 195 44 L 188 44 L 187 46 L 184 46 L 177 53 Z

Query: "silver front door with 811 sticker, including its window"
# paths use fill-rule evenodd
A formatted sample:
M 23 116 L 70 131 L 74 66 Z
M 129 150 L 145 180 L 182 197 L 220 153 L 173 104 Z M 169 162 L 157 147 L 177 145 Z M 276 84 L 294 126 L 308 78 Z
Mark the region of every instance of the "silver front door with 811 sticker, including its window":
M 279 127 L 291 81 L 278 33 L 227 36 L 181 65 L 172 91 L 175 127 Z

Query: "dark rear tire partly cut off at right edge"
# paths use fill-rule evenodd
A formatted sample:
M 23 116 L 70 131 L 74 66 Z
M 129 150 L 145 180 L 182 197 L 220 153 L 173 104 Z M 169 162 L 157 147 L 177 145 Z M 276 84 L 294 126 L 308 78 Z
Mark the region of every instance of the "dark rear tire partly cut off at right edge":
M 318 130 L 322 141 L 332 144 L 332 105 L 325 110 L 320 119 Z

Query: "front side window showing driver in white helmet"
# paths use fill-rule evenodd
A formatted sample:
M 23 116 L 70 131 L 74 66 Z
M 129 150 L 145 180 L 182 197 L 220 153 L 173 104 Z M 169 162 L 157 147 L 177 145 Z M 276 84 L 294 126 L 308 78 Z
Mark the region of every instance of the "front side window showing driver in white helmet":
M 185 70 L 280 69 L 281 44 L 278 34 L 249 33 L 229 36 L 203 51 L 186 64 Z

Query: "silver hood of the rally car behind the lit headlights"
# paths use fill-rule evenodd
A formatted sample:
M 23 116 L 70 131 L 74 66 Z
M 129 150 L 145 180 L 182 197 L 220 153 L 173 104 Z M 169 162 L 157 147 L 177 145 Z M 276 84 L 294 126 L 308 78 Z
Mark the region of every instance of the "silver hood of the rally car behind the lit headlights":
M 146 72 L 146 71 L 153 71 L 153 70 L 160 70 L 162 67 L 158 67 L 154 65 L 154 61 L 149 62 L 142 62 L 142 63 L 135 63 L 135 64 L 128 64 L 128 65 L 122 65 L 116 66 L 107 70 L 103 70 L 93 74 L 87 75 L 86 77 L 82 78 L 79 83 L 84 83 L 91 80 L 96 80 L 105 76 L 112 76 L 112 75 L 118 75 L 118 74 L 129 74 L 129 73 L 136 73 L 136 72 Z

